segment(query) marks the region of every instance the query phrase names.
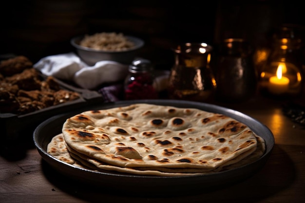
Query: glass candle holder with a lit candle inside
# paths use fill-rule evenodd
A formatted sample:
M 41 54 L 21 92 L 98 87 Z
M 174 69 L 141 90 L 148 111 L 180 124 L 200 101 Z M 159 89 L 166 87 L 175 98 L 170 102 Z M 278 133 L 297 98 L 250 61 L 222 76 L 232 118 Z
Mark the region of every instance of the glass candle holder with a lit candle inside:
M 264 95 L 290 98 L 302 93 L 302 41 L 292 32 L 291 28 L 283 27 L 281 35 L 274 38 L 272 51 L 260 74 L 259 86 Z

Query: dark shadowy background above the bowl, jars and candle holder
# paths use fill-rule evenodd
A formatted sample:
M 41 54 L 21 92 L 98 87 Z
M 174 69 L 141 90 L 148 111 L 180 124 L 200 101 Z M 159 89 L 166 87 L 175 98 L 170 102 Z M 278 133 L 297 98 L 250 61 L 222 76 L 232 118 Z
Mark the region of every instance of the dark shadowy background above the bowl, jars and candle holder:
M 11 0 L 0 17 L 2 57 L 25 55 L 35 63 L 74 51 L 70 39 L 77 35 L 122 32 L 143 38 L 139 56 L 162 69 L 171 68 L 177 43 L 217 47 L 224 38 L 242 37 L 259 48 L 270 45 L 281 25 L 305 25 L 305 9 L 295 0 Z

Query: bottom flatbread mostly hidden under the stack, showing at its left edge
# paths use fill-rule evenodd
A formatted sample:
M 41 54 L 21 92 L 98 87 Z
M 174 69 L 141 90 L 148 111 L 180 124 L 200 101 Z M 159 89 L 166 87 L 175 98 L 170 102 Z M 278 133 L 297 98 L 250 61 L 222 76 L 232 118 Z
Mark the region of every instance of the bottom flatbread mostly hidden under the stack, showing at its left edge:
M 163 168 L 163 167 L 117 167 L 110 166 L 106 163 L 102 163 L 101 161 L 95 160 L 89 156 L 81 154 L 74 149 L 70 148 L 64 141 L 62 133 L 53 137 L 52 141 L 48 144 L 48 153 L 52 154 L 52 156 L 57 159 L 64 161 L 68 164 L 72 164 L 73 166 L 77 166 L 80 168 L 90 169 L 94 171 L 101 172 L 119 172 L 119 173 L 128 173 L 128 174 L 136 174 L 136 175 L 154 175 L 154 176 L 186 176 L 186 175 L 202 175 L 209 174 L 213 172 L 218 172 L 222 170 L 229 170 L 233 168 L 237 168 L 240 166 L 244 166 L 249 164 L 259 157 L 263 155 L 263 151 L 265 150 L 265 141 L 264 139 L 258 138 L 258 148 L 255 152 L 251 153 L 249 156 L 240 160 L 239 162 L 227 165 L 224 167 L 219 167 L 214 170 L 203 170 L 198 168 Z M 60 147 L 57 147 L 60 146 Z M 64 147 L 66 146 L 66 148 Z M 62 159 L 62 157 L 69 157 Z

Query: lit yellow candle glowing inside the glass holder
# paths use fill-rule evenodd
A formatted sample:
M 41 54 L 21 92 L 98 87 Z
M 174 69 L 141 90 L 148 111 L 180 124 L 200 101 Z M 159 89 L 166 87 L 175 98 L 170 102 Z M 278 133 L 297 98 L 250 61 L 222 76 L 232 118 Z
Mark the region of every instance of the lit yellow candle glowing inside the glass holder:
M 287 77 L 282 76 L 283 64 L 280 64 L 276 71 L 276 76 L 272 76 L 269 78 L 268 89 L 269 92 L 274 94 L 282 94 L 287 92 L 289 79 Z

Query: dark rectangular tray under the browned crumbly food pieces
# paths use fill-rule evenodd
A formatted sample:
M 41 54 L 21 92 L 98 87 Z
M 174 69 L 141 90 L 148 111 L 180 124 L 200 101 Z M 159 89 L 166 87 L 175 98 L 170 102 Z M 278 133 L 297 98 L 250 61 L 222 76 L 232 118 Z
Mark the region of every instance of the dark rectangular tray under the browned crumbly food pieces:
M 47 76 L 41 74 L 43 78 Z M 69 112 L 82 108 L 86 105 L 102 103 L 102 95 L 96 91 L 76 88 L 57 78 L 54 80 L 59 84 L 63 90 L 78 92 L 80 97 L 73 101 L 68 101 L 52 107 L 47 107 L 38 111 L 17 115 L 13 113 L 0 113 L 0 138 L 3 143 L 14 142 L 32 142 L 32 135 L 35 128 L 44 120 L 64 112 Z M 4 142 L 6 141 L 6 142 Z M 7 146 L 6 146 L 7 147 Z

